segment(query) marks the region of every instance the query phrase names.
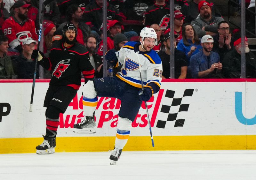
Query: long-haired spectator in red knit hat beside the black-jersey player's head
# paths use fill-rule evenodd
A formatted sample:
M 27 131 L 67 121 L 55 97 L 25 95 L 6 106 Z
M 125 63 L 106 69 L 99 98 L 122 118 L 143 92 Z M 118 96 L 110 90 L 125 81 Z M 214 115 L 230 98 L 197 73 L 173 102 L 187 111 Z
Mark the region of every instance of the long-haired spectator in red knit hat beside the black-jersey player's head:
M 44 53 L 47 53 L 52 47 L 53 33 L 56 31 L 56 27 L 52 21 L 44 20 Z

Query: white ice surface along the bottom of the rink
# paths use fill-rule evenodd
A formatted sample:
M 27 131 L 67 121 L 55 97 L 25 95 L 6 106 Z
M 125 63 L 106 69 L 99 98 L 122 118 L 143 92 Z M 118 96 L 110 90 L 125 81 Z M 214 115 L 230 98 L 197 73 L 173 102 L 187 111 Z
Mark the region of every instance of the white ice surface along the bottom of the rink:
M 255 180 L 256 151 L 0 154 L 0 180 Z

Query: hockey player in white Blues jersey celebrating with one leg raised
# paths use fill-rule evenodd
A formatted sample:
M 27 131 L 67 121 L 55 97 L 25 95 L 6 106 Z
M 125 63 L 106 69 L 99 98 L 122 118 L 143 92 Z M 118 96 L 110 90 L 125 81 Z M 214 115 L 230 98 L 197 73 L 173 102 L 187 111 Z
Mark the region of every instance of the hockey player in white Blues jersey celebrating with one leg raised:
M 162 62 L 157 53 L 152 50 L 157 44 L 156 38 L 157 35 L 153 28 L 144 27 L 140 32 L 140 42 L 127 42 L 119 51 L 109 50 L 105 59 L 109 65 L 114 67 L 122 64 L 121 71 L 114 77 L 88 81 L 83 87 L 85 117 L 81 123 L 74 125 L 76 132 L 83 131 L 94 123 L 97 96 L 115 97 L 121 100 L 116 126 L 115 148 L 109 157 L 110 165 L 116 164 L 120 158 L 122 149 L 128 141 L 132 122 L 139 112 L 142 101 L 148 101 L 160 89 Z M 143 93 L 140 68 L 144 86 Z

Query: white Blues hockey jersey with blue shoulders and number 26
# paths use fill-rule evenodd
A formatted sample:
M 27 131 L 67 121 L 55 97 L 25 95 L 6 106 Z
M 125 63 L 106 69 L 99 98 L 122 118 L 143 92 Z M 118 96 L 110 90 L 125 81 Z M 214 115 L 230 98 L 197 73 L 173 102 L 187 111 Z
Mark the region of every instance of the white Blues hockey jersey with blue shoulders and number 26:
M 115 67 L 122 64 L 122 68 L 116 76 L 132 86 L 141 88 L 141 67 L 143 85 L 146 86 L 153 82 L 160 88 L 163 72 L 162 61 L 154 50 L 149 52 L 140 51 L 137 56 L 136 52 L 139 51 L 139 45 L 138 42 L 127 42 L 118 51 L 118 62 Z

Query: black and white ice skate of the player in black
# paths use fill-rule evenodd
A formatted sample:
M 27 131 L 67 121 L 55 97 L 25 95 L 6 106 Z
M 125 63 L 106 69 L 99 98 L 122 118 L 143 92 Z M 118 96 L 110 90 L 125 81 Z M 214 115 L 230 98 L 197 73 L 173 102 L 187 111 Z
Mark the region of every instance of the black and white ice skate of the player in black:
M 44 136 L 44 141 L 39 146 L 36 146 L 36 154 L 52 154 L 55 152 L 53 144 L 53 139 L 48 136 Z M 56 141 L 54 142 L 56 146 Z

